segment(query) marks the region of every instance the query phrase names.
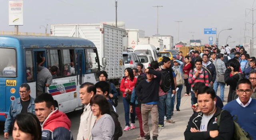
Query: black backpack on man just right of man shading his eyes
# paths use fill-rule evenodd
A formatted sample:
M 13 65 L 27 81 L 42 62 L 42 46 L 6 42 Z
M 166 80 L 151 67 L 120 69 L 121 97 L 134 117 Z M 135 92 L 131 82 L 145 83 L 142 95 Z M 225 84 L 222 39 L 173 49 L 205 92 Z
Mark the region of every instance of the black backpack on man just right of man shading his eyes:
M 171 88 L 171 76 L 170 76 L 170 73 L 168 72 L 165 72 L 163 70 L 161 70 L 161 89 L 164 91 L 164 92 L 167 92 L 170 90 Z

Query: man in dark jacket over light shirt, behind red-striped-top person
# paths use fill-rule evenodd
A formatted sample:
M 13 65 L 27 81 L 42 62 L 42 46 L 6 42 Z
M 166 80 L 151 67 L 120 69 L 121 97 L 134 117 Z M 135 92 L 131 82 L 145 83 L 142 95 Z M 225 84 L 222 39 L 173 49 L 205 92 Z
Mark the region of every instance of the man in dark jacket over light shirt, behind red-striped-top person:
M 209 84 L 213 87 L 213 83 L 216 80 L 216 68 L 214 64 L 208 59 L 207 54 L 203 54 L 203 66 L 208 72 Z

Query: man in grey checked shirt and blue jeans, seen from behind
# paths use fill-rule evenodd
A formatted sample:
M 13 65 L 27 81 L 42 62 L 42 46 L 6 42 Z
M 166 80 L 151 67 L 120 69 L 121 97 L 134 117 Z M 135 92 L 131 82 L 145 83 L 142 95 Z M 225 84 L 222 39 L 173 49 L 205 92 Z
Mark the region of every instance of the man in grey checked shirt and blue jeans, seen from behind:
M 223 60 L 223 54 L 218 55 L 218 59 L 214 62 L 217 78 L 214 82 L 214 91 L 217 94 L 218 86 L 220 85 L 220 99 L 224 101 L 224 89 L 225 89 L 225 81 L 224 81 L 224 73 L 226 71 L 226 65 L 222 61 Z

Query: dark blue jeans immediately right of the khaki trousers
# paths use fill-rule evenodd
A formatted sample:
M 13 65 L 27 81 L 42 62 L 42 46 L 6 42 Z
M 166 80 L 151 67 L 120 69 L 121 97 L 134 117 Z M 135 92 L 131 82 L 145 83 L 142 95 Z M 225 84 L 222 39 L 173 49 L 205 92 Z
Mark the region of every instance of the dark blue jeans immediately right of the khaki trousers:
M 157 103 L 158 108 L 158 124 L 164 125 L 164 106 L 166 103 L 167 95 L 159 96 Z

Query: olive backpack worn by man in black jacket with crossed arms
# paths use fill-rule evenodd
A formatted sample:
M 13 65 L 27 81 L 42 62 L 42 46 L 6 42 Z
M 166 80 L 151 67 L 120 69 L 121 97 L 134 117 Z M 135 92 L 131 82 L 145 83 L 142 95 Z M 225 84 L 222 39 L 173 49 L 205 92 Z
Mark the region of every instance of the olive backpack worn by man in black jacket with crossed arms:
M 220 112 L 220 115 L 223 111 L 224 110 L 222 110 Z M 220 126 L 220 115 L 218 115 L 218 117 L 217 117 L 218 126 Z M 246 132 L 243 128 L 241 128 L 239 126 L 239 124 L 236 122 L 237 121 L 237 116 L 236 115 L 234 115 L 234 116 L 236 117 L 236 119 L 234 121 L 234 135 L 233 135 L 234 140 L 252 140 L 252 138 L 250 137 L 248 132 Z

